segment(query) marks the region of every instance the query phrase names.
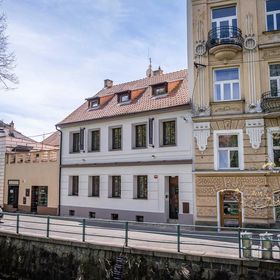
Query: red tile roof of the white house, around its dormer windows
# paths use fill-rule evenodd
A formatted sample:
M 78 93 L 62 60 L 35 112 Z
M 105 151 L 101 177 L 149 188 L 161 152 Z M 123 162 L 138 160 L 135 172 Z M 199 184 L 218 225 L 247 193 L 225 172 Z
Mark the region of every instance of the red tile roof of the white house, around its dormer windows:
M 151 86 L 164 82 L 168 82 L 170 85 L 168 86 L 168 94 L 160 98 L 153 97 Z M 142 92 L 139 94 L 139 90 L 141 89 Z M 124 91 L 131 91 L 132 96 L 136 96 L 136 98 L 134 100 L 132 99 L 129 104 L 118 104 L 117 93 Z M 187 87 L 187 71 L 181 70 L 114 85 L 111 88 L 103 88 L 92 98 L 95 97 L 100 97 L 100 99 L 105 97 L 106 102 L 104 104 L 101 102 L 101 105 L 97 109 L 89 109 L 88 101 L 86 101 L 58 125 L 190 104 Z

